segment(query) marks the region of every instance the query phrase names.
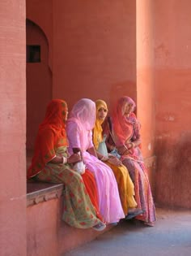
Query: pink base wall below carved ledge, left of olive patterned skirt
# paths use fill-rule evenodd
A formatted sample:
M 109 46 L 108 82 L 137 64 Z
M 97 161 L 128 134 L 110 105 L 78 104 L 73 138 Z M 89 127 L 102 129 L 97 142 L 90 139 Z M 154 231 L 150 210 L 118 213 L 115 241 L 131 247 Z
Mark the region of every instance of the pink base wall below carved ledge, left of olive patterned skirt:
M 50 200 L 27 208 L 28 256 L 58 255 L 59 218 L 58 200 Z

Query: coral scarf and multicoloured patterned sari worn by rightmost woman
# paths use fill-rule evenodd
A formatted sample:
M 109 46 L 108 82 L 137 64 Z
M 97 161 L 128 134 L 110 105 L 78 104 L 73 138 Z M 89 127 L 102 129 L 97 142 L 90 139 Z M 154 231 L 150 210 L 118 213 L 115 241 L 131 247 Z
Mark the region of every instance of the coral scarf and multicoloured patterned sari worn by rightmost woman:
M 122 109 L 125 103 L 128 103 L 129 100 L 132 102 L 130 98 L 123 97 L 117 103 L 117 110 L 115 110 L 114 113 L 119 113 L 119 115 L 112 116 L 112 134 L 114 137 L 111 138 L 110 136 L 110 143 L 113 141 L 113 138 L 117 139 L 117 143 L 114 141 L 117 145 L 123 145 L 125 141 L 134 142 L 140 139 L 140 124 L 136 115 L 130 113 L 129 117 L 124 117 L 121 114 L 123 113 Z M 122 128 L 114 128 L 114 124 L 120 125 Z M 119 136 L 118 131 L 120 131 Z M 135 200 L 138 203 L 138 207 L 144 210 L 144 213 L 138 216 L 137 219 L 143 220 L 144 222 L 154 222 L 156 220 L 155 205 L 139 146 L 126 151 L 125 154 L 121 156 L 121 161 L 125 167 L 127 167 L 129 175 L 134 182 Z

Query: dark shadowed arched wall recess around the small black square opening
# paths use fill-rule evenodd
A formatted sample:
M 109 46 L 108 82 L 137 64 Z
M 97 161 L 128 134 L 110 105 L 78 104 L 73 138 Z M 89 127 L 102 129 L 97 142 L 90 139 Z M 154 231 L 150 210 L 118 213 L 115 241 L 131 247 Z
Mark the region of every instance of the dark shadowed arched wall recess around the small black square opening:
M 45 108 L 53 92 L 52 0 L 27 0 L 26 15 L 27 44 L 40 45 L 41 49 L 41 62 L 27 63 L 27 149 L 32 150 L 38 126 L 45 117 Z

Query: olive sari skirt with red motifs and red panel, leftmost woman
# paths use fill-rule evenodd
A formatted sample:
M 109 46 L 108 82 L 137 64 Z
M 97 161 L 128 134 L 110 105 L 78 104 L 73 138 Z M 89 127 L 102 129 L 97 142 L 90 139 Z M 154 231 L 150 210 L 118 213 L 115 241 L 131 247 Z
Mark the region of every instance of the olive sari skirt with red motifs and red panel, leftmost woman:
M 65 156 L 66 147 L 58 148 L 56 154 Z M 93 202 L 96 202 L 95 206 L 93 206 L 87 193 L 88 189 L 88 191 L 93 190 L 96 194 L 96 183 L 92 182 L 90 176 L 91 173 L 89 171 L 80 176 L 68 164 L 53 163 L 47 163 L 44 169 L 36 176 L 36 179 L 40 181 L 65 184 L 62 219 L 74 228 L 91 228 L 102 219 L 98 208 L 96 209 L 98 204 L 96 197 L 93 196 Z M 87 189 L 83 179 L 86 180 Z

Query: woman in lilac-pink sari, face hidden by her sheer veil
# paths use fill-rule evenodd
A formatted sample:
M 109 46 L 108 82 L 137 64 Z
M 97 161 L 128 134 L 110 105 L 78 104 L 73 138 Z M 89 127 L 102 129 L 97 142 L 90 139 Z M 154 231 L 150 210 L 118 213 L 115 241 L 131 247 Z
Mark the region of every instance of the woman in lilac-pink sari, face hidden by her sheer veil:
M 110 167 L 101 162 L 92 142 L 92 128 L 96 122 L 96 104 L 90 99 L 79 100 L 70 112 L 66 124 L 70 153 L 80 151 L 83 162 L 95 178 L 100 214 L 106 223 L 125 218 L 117 189 L 117 181 Z

